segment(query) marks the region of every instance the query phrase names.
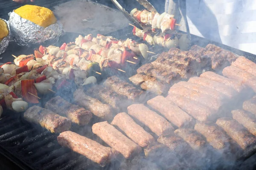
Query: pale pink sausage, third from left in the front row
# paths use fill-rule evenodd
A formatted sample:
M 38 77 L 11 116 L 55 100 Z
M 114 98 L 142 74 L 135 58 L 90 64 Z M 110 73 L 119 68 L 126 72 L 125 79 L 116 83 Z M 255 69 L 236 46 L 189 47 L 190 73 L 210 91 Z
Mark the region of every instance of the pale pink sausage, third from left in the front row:
M 111 125 L 119 127 L 131 140 L 141 147 L 146 147 L 148 144 L 155 142 L 154 137 L 140 127 L 140 125 L 137 125 L 126 113 L 117 114 Z

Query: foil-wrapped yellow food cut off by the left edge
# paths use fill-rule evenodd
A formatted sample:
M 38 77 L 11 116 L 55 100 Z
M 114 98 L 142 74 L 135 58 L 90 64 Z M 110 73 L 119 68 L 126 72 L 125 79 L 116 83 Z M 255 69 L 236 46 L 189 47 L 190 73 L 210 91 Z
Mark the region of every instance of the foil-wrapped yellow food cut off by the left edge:
M 10 28 L 6 20 L 0 18 L 0 54 L 6 51 L 10 41 Z

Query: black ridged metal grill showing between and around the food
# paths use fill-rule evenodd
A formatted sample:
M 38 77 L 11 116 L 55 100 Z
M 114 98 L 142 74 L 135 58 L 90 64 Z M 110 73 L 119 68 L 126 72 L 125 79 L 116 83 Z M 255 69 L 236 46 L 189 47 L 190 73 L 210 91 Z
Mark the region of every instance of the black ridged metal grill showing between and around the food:
M 142 40 L 135 37 L 131 33 L 131 29 L 131 27 L 126 27 L 109 35 L 112 35 L 118 39 L 131 38 L 137 40 L 137 42 L 142 42 Z M 60 46 L 63 42 L 74 41 L 78 35 L 79 34 L 76 33 L 67 33 L 56 45 Z M 256 62 L 256 55 L 192 35 L 191 45 L 197 44 L 204 47 L 208 43 L 218 45 L 221 48 L 232 51 L 238 55 L 245 56 L 251 59 L 253 62 Z M 33 48 L 34 47 L 19 47 L 15 44 L 15 42 L 10 42 L 6 53 L 3 54 L 2 60 L 3 62 L 12 61 L 13 58 L 10 57 L 11 54 L 31 54 Z M 149 50 L 155 53 L 161 53 L 164 51 L 164 49 L 160 47 L 150 47 Z M 56 140 L 58 136 L 57 134 L 52 134 L 38 125 L 32 125 L 26 121 L 23 121 L 22 117 L 22 114 L 6 111 L 3 113 L 2 118 L 0 119 L 0 153 L 17 164 L 21 169 L 107 170 L 119 168 L 119 160 L 113 161 L 111 164 L 105 167 L 100 167 L 98 164 L 93 163 L 84 156 L 74 153 L 67 148 L 61 147 Z M 95 122 L 95 120 L 93 120 L 93 122 Z M 91 126 L 93 125 L 93 122 L 84 128 L 77 128 L 75 126 L 72 127 L 73 129 L 71 130 L 79 134 L 86 134 L 87 137 L 99 141 L 95 135 L 91 134 Z M 101 143 L 103 142 L 101 141 Z M 256 153 L 256 146 L 241 156 L 241 158 L 237 161 L 236 167 L 239 167 L 243 161 L 254 155 L 254 153 Z

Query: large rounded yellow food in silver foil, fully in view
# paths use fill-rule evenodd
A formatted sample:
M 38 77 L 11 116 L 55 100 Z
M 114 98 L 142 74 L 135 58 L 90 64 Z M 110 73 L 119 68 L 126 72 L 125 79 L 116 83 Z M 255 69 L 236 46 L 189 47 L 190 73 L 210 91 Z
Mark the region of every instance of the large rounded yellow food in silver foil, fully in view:
M 25 5 L 9 13 L 9 16 L 12 38 L 21 46 L 54 44 L 65 34 L 62 24 L 48 8 Z

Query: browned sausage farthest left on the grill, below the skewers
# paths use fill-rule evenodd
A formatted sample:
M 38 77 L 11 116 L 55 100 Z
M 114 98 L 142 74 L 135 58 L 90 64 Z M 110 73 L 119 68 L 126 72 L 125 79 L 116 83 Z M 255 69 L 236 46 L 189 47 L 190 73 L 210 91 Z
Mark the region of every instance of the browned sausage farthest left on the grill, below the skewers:
M 69 119 L 39 106 L 32 106 L 26 110 L 24 113 L 24 119 L 41 125 L 52 133 L 61 133 L 69 130 L 71 127 Z

